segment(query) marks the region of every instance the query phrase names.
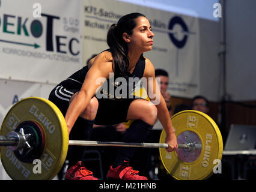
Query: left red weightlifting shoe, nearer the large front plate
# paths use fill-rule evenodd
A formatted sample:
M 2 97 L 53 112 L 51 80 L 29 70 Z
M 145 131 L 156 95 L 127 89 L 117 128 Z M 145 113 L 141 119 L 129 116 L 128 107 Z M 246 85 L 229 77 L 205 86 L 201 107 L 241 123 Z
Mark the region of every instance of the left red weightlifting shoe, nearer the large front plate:
M 93 172 L 86 169 L 82 161 L 78 161 L 75 166 L 70 167 L 65 175 L 67 180 L 99 180 L 94 178 Z

